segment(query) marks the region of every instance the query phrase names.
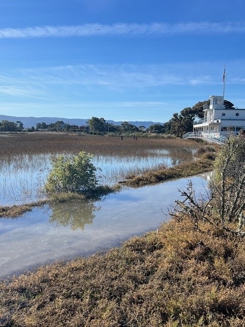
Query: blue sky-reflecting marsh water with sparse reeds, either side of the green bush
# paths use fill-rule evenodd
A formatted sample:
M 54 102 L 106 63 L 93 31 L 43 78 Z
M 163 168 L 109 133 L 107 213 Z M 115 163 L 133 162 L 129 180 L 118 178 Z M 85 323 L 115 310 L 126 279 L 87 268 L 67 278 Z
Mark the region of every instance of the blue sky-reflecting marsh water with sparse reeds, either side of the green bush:
M 158 154 L 158 156 L 157 156 Z M 48 174 L 50 154 L 22 155 L 0 161 L 0 205 L 35 201 Z M 92 162 L 101 184 L 112 185 L 128 174 L 140 174 L 159 165 L 171 166 L 173 162 L 166 150 L 158 150 L 148 157 L 94 156 Z

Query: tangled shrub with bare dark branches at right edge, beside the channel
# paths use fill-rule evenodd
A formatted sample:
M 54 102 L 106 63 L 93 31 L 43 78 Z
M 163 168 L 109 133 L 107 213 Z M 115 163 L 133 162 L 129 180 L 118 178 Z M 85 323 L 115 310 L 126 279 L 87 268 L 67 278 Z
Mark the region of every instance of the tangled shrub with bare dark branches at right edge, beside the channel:
M 218 153 L 214 178 L 206 196 L 195 196 L 192 182 L 181 191 L 184 201 L 177 200 L 170 215 L 180 218 L 185 213 L 199 228 L 206 221 L 233 235 L 245 236 L 245 138 L 230 136 Z

